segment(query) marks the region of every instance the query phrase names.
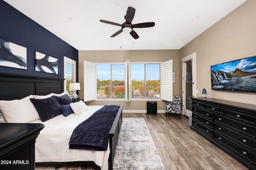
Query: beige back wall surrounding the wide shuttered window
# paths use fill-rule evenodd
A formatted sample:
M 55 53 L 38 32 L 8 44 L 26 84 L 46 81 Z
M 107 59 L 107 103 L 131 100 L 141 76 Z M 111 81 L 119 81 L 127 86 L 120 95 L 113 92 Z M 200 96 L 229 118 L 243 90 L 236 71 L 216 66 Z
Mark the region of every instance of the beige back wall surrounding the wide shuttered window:
M 84 61 L 97 62 L 163 62 L 172 59 L 175 83 L 173 95 L 180 94 L 179 50 L 118 50 L 118 51 L 79 51 L 78 52 L 78 79 L 81 90 L 79 96 L 84 98 Z M 124 105 L 124 110 L 146 110 L 146 101 L 90 101 L 87 105 L 117 104 Z M 157 101 L 158 110 L 164 110 L 166 101 Z

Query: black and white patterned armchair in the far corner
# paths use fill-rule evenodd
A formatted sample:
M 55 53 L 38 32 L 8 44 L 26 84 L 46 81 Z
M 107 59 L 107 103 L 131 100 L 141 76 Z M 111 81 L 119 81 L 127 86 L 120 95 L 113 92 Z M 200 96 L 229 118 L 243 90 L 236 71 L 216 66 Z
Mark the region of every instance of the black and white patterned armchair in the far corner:
M 180 100 L 181 100 L 180 96 L 173 96 L 172 102 L 167 101 L 167 106 L 165 107 L 166 117 L 167 117 L 167 113 L 177 113 L 179 114 L 179 118 L 180 118 L 180 113 L 181 113 Z

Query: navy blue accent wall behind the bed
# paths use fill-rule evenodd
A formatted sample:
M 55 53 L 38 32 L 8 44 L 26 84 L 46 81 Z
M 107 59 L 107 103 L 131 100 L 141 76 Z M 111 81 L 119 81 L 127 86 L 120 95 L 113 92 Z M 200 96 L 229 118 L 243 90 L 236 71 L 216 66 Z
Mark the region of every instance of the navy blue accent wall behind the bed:
M 76 61 L 76 80 L 78 82 L 77 49 L 3 0 L 0 0 L 0 16 L 0 39 L 10 41 L 27 48 L 26 70 L 0 66 L 0 72 L 64 78 L 64 56 L 66 56 Z M 58 74 L 35 71 L 36 51 L 58 59 Z

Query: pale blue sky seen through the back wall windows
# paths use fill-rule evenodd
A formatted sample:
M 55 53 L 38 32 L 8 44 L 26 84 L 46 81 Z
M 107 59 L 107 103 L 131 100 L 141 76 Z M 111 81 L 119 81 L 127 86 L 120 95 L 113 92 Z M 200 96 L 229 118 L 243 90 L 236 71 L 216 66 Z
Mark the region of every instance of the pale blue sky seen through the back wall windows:
M 112 64 L 112 80 L 124 81 L 125 64 Z M 110 79 L 110 64 L 97 64 L 97 78 Z M 132 80 L 144 80 L 144 64 L 132 64 Z M 146 80 L 160 80 L 160 64 L 146 64 Z

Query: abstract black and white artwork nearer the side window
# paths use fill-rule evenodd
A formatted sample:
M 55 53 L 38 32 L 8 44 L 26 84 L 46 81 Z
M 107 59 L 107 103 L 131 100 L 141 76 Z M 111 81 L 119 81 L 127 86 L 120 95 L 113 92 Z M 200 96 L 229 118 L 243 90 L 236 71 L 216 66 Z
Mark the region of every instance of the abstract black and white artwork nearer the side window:
M 36 51 L 36 71 L 58 74 L 58 59 Z

